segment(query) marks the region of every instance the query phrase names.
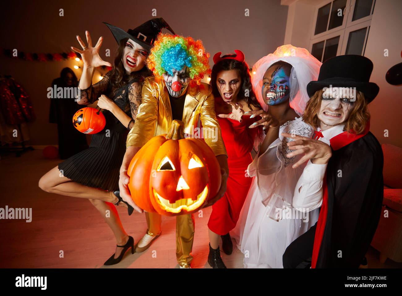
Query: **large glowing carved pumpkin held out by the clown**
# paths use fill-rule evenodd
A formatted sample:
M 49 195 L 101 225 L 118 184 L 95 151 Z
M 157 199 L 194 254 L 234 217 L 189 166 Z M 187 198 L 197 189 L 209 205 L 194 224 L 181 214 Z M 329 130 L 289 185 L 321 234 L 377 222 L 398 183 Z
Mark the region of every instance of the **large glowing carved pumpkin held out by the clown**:
M 153 137 L 133 157 L 128 184 L 133 201 L 162 215 L 194 213 L 221 185 L 219 163 L 201 139 L 185 138 L 173 120 L 168 134 Z

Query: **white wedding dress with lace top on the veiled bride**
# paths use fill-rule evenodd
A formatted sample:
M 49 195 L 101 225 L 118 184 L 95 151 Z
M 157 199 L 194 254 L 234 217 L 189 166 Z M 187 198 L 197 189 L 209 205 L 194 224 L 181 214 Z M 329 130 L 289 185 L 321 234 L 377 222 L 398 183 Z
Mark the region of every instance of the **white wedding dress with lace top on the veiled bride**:
M 283 268 L 282 255 L 287 246 L 318 220 L 319 209 L 302 213 L 291 206 L 297 180 L 304 166 L 291 166 L 301 157 L 287 158 L 291 150 L 283 138 L 289 132 L 311 138 L 313 129 L 295 118 L 279 129 L 275 140 L 248 166 L 253 181 L 236 228 L 230 232 L 244 253 L 245 268 Z

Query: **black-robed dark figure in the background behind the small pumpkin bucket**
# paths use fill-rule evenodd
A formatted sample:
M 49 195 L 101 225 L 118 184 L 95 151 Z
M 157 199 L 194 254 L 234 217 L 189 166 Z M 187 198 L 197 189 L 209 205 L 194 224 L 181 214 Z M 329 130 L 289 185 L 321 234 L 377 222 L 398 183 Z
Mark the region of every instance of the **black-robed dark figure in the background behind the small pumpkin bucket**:
M 78 87 L 77 77 L 73 70 L 66 67 L 60 72 L 60 77 L 53 80 L 51 87 Z M 60 159 L 66 159 L 88 148 L 86 135 L 79 132 L 72 124 L 73 115 L 82 106 L 74 98 L 50 99 L 49 122 L 57 123 Z

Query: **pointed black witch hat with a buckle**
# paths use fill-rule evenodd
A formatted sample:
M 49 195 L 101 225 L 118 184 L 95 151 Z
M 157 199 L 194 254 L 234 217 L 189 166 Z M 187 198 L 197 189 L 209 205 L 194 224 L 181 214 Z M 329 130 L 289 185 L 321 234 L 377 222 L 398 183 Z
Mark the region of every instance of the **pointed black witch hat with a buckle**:
M 166 28 L 172 32 L 172 34 L 174 34 L 172 28 L 170 28 L 168 23 L 166 23 L 166 21 L 161 17 L 146 21 L 135 29 L 128 29 L 127 32 L 111 24 L 105 22 L 103 23 L 109 27 L 110 31 L 112 31 L 117 43 L 119 43 L 121 39 L 129 38 L 143 46 L 146 50 L 150 50 L 154 44 L 156 36 L 158 36 L 158 34 L 162 31 L 162 28 Z

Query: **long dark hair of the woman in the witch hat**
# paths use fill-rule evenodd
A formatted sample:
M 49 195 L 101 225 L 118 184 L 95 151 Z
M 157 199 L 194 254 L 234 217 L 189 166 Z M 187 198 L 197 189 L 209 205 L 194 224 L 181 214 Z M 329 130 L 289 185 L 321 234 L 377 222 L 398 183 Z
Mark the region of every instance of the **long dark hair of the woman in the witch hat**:
M 110 74 L 107 74 L 110 75 L 110 83 L 115 88 L 122 87 L 135 77 L 138 77 L 138 75 L 142 76 L 144 79 L 152 75 L 146 65 L 144 65 L 144 68 L 142 68 L 141 70 L 131 72 L 129 75 L 127 75 L 122 61 L 127 40 L 128 38 L 124 38 L 120 41 L 119 46 L 117 47 L 117 54 L 113 63 L 113 69 L 109 72 Z

